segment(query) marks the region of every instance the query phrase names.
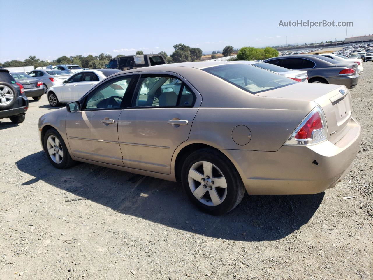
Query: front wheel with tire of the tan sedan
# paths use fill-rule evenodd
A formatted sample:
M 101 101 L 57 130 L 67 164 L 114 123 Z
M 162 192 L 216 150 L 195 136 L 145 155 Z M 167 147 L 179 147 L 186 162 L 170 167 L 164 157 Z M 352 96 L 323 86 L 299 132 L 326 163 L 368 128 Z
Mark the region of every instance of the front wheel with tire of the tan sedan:
M 61 135 L 54 128 L 47 130 L 43 143 L 47 157 L 54 167 L 65 169 L 75 164 Z

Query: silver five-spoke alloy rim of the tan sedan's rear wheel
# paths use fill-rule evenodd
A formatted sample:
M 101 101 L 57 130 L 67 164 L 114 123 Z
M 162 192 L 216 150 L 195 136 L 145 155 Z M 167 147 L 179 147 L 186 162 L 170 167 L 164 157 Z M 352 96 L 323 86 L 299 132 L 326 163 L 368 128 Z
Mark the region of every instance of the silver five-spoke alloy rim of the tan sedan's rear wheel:
M 199 202 L 207 206 L 217 206 L 227 195 L 227 181 L 215 165 L 208 161 L 198 161 L 188 172 L 189 188 Z

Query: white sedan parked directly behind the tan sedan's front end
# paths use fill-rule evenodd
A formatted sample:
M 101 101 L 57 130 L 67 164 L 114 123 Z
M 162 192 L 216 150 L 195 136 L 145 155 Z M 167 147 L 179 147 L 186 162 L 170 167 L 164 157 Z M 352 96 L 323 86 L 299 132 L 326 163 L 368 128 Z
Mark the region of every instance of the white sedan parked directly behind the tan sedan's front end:
M 48 88 L 48 102 L 52 107 L 56 107 L 61 103 L 77 101 L 100 81 L 117 72 L 120 70 L 95 69 L 75 73 L 62 84 Z

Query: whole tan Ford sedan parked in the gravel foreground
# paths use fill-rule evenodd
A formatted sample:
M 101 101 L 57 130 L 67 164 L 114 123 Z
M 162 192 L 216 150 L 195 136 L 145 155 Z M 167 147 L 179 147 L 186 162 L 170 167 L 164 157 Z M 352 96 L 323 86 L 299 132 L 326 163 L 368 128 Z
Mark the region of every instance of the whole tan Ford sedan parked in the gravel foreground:
M 178 181 L 211 214 L 232 210 L 245 192 L 332 188 L 361 140 L 344 85 L 215 61 L 118 72 L 41 116 L 39 131 L 56 168 L 81 161 Z

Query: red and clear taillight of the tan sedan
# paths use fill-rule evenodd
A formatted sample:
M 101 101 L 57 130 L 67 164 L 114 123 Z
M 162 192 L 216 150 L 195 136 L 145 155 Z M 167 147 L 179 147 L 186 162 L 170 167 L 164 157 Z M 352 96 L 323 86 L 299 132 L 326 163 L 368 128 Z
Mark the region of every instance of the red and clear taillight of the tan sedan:
M 320 106 L 314 108 L 284 145 L 311 145 L 327 140 L 326 119 Z

